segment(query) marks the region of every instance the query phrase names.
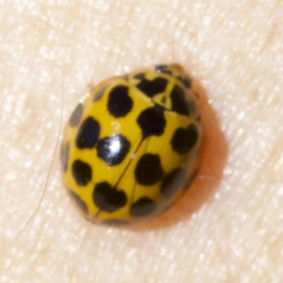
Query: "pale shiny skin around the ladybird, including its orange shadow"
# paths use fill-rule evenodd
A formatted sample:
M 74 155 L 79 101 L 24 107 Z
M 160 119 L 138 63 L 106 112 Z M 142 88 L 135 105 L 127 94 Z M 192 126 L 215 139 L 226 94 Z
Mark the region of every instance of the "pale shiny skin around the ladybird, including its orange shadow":
M 0 282 L 283 282 L 283 2 L 0 1 Z M 195 183 L 133 229 L 62 187 L 62 122 L 89 86 L 178 62 L 206 129 Z M 62 134 L 60 134 L 62 137 Z

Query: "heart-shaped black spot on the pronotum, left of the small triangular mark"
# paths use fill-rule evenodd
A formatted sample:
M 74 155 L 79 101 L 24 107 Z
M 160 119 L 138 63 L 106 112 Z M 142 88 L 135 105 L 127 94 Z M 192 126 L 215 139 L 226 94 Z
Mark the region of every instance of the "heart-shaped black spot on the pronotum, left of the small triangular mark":
M 166 90 L 167 83 L 167 79 L 161 77 L 155 78 L 152 81 L 149 81 L 148 79 L 142 79 L 137 84 L 137 88 L 139 88 L 139 90 L 142 91 L 146 96 L 151 98 L 158 93 L 163 93 L 163 91 Z

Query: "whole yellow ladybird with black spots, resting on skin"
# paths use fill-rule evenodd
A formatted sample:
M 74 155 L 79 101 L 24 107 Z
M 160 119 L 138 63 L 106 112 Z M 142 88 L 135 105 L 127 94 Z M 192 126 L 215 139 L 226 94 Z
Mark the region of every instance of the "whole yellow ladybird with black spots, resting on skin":
M 138 69 L 91 88 L 67 122 L 64 186 L 96 224 L 134 224 L 171 206 L 195 178 L 202 122 L 178 64 Z

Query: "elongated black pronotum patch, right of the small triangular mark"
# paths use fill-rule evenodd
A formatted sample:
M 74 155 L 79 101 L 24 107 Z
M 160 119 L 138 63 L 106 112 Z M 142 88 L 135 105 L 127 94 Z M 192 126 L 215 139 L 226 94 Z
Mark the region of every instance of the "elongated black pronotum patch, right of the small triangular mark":
M 190 115 L 190 109 L 187 105 L 187 100 L 185 99 L 185 92 L 183 88 L 178 85 L 175 85 L 170 94 L 172 106 L 171 110 L 181 114 L 181 115 Z

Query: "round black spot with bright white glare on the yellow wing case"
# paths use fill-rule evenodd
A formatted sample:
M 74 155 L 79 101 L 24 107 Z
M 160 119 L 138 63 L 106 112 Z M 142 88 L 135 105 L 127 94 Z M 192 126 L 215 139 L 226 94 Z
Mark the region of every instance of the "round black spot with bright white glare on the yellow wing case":
M 97 153 L 108 166 L 114 166 L 123 161 L 129 147 L 130 143 L 126 137 L 122 134 L 114 134 L 98 141 Z

